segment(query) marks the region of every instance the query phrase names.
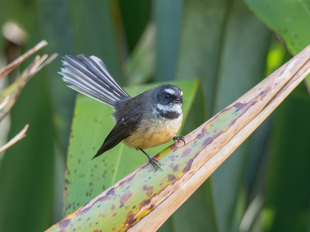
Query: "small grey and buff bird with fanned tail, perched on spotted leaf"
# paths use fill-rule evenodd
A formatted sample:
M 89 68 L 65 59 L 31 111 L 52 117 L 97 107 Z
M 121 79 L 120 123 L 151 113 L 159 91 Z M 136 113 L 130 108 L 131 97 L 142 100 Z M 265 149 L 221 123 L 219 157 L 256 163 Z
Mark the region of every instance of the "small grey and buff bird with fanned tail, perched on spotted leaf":
M 99 58 L 81 54 L 66 55 L 63 59 L 64 68 L 59 73 L 70 84 L 68 87 L 114 110 L 112 117 L 116 125 L 93 158 L 123 140 L 127 146 L 141 150 L 156 168 L 160 168 L 156 164 L 159 161 L 145 153 L 144 149 L 159 146 L 171 139 L 175 142 L 182 140 L 185 144 L 182 135 L 175 136 L 183 118 L 183 93 L 179 87 L 163 84 L 131 98 L 115 82 Z

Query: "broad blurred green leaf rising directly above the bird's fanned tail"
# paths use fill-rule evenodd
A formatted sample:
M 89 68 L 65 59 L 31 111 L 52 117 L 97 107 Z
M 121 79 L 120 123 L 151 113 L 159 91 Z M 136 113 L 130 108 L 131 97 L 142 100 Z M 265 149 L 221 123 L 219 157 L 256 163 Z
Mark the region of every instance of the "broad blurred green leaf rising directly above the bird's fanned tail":
M 77 54 L 100 57 L 111 75 L 122 84 L 121 34 L 119 23 L 113 17 L 120 16 L 117 1 L 70 0 L 70 16 Z

